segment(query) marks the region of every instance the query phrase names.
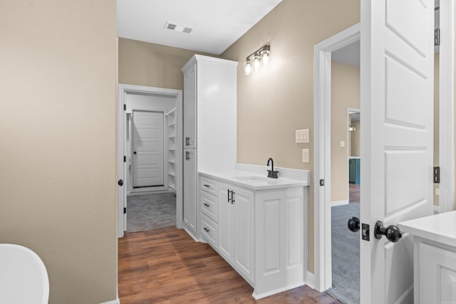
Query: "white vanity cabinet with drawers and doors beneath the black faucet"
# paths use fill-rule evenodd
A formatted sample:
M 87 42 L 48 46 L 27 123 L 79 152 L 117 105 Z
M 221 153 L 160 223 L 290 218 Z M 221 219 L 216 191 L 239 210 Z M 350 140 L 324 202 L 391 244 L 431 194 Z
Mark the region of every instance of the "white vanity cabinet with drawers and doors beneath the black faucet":
M 257 299 L 304 285 L 306 271 L 307 187 L 264 179 L 265 187 L 249 187 L 199 174 L 202 241 L 254 287 Z

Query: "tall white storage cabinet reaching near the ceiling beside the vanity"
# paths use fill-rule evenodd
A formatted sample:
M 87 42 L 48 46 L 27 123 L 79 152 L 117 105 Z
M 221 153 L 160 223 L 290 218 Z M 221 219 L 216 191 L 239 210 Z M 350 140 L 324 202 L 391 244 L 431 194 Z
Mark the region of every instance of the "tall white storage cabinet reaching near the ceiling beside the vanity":
M 195 55 L 182 72 L 184 228 L 197 238 L 198 171 L 234 170 L 237 161 L 237 62 Z

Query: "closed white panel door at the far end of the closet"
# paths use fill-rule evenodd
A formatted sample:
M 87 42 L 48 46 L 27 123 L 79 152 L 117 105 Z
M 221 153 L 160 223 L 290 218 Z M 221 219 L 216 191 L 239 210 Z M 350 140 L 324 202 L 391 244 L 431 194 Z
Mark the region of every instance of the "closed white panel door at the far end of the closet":
M 163 113 L 133 110 L 133 188 L 163 185 Z

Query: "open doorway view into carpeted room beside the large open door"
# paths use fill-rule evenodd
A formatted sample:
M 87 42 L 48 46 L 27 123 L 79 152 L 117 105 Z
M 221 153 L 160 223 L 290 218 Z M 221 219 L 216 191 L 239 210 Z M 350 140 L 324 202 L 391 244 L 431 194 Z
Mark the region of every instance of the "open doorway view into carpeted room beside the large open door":
M 359 238 L 347 229 L 359 217 L 360 43 L 331 54 L 331 277 L 326 292 L 342 303 L 359 303 Z

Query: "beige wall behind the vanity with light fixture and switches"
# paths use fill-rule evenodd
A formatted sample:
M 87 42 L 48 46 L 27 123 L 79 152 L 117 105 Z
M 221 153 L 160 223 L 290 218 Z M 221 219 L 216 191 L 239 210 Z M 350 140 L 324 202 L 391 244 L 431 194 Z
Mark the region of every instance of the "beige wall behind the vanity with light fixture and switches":
M 266 166 L 314 167 L 314 45 L 360 21 L 360 2 L 284 0 L 222 53 L 239 61 L 237 160 Z M 246 56 L 271 43 L 271 63 L 244 76 Z M 296 144 L 295 130 L 309 129 L 311 142 Z M 301 150 L 310 150 L 302 162 Z M 313 174 L 311 174 L 313 179 Z M 314 272 L 314 192 L 309 189 L 309 271 Z

